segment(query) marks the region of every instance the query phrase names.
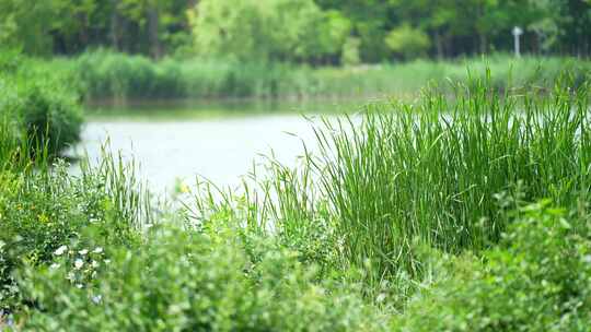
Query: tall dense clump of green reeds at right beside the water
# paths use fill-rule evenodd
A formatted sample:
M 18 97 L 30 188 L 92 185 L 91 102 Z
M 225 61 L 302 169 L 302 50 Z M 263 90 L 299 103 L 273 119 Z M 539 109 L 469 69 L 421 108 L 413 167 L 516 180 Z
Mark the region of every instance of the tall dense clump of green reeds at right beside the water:
M 548 96 L 499 96 L 477 80 L 451 102 L 427 94 L 417 105 L 370 105 L 359 127 L 318 130 L 312 163 L 343 254 L 357 265 L 370 260 L 378 281 L 399 271 L 417 277 L 416 239 L 449 252 L 498 241 L 502 195 L 587 201 L 589 86 L 568 83 Z

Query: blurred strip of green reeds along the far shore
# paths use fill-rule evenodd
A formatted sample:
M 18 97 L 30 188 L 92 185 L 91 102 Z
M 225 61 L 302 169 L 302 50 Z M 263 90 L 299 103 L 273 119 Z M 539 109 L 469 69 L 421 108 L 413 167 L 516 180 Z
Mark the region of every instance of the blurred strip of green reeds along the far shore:
M 383 63 L 355 68 L 310 68 L 281 63 L 244 63 L 219 60 L 166 58 L 152 61 L 140 56 L 93 51 L 55 60 L 53 68 L 74 72 L 91 99 L 141 98 L 360 98 L 416 95 L 429 82 L 447 85 L 466 82 L 490 68 L 497 87 L 547 85 L 569 69 L 582 82 L 591 64 L 568 58 L 497 55 L 483 59 Z

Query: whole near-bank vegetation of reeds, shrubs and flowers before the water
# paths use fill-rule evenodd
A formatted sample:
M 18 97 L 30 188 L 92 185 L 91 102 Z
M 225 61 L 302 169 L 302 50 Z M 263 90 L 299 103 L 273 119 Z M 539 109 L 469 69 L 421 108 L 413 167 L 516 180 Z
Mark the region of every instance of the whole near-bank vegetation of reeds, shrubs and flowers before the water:
M 316 123 L 300 166 L 199 182 L 165 215 L 132 165 L 68 175 L 51 137 L 3 118 L 0 329 L 586 331 L 580 78 L 499 91 L 487 73 L 372 104 Z

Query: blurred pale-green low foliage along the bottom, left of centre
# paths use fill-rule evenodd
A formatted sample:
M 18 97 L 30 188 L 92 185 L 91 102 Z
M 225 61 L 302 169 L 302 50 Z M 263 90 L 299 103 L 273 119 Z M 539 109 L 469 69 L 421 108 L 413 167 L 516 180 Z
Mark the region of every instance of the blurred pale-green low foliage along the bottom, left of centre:
M 113 249 L 97 281 L 82 288 L 58 269 L 30 271 L 40 310 L 34 331 L 376 331 L 380 320 L 355 290 L 316 283 L 297 254 L 265 239 L 256 261 L 235 230 L 151 230 L 134 250 Z M 80 265 L 80 263 L 79 263 Z

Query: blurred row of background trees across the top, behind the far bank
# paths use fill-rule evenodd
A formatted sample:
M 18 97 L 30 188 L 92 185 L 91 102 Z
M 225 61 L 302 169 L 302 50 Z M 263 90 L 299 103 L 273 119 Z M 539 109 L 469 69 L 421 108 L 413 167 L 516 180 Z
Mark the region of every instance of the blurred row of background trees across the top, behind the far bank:
M 591 0 L 0 0 L 0 45 L 37 56 L 356 64 L 510 51 L 589 56 Z

